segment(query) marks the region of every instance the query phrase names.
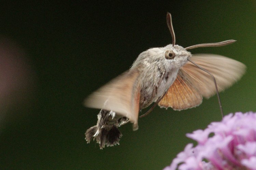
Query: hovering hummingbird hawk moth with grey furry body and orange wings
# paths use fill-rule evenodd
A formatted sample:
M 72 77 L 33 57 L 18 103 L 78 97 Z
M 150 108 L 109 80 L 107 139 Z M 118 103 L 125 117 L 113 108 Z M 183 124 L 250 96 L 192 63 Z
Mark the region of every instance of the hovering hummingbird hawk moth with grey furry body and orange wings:
M 149 112 L 156 105 L 178 111 L 196 107 L 203 97 L 210 98 L 216 93 L 215 89 L 222 91 L 230 87 L 244 74 L 245 65 L 236 60 L 216 54 L 192 55 L 187 51 L 225 46 L 235 40 L 183 48 L 175 45 L 170 13 L 167 13 L 167 25 L 172 44 L 142 52 L 128 71 L 85 99 L 85 106 L 101 109 L 97 125 L 85 133 L 87 143 L 96 140 L 100 149 L 117 145 L 122 136 L 118 126 L 130 122 L 133 130 L 137 130 L 140 110 L 153 102 Z

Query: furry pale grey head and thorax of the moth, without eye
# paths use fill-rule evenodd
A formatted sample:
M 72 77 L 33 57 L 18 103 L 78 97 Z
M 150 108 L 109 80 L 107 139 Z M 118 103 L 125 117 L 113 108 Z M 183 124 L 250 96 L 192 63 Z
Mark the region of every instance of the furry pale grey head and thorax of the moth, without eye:
M 165 58 L 166 50 L 172 50 L 175 57 Z M 141 68 L 140 109 L 149 106 L 161 98 L 176 79 L 179 69 L 187 63 L 191 53 L 183 47 L 167 45 L 162 48 L 151 48 L 142 52 L 131 69 Z

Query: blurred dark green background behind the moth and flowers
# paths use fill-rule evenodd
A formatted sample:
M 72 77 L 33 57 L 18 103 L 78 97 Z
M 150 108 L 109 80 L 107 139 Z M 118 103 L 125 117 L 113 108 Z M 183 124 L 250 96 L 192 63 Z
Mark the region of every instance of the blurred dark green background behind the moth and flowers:
M 190 51 L 244 63 L 246 74 L 220 94 L 224 114 L 256 111 L 256 1 L 1 1 L 0 7 L 0 37 L 26 54 L 30 73 L 22 77 L 32 86 L 23 97 L 6 96 L 0 108 L 0 169 L 162 169 L 193 142 L 186 133 L 221 120 L 215 95 L 181 112 L 156 107 L 139 119 L 138 131 L 120 127 L 119 146 L 86 144 L 99 110 L 84 107 L 84 98 L 141 52 L 171 43 L 167 12 L 178 45 L 237 40 Z

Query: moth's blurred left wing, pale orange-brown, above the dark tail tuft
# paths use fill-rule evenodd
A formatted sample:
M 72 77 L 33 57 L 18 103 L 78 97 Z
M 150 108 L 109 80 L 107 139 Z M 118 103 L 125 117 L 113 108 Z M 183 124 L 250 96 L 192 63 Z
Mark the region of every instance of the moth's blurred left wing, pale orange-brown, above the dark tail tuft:
M 85 99 L 85 106 L 111 110 L 129 118 L 133 130 L 138 129 L 140 73 L 132 69 L 119 75 Z

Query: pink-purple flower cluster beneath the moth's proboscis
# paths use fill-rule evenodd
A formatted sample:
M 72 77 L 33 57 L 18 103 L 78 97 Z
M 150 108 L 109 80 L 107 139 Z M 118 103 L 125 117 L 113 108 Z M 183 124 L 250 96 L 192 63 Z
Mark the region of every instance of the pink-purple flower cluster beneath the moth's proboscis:
M 198 145 L 189 143 L 164 170 L 256 169 L 256 113 L 229 114 L 186 136 Z

